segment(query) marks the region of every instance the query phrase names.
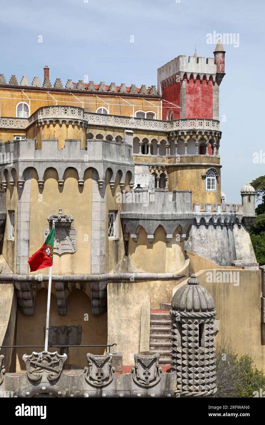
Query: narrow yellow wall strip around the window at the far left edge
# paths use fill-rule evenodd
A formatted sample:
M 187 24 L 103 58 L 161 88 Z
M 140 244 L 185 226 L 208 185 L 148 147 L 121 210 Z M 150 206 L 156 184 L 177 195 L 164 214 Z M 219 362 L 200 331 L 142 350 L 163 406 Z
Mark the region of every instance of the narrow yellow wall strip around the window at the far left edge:
M 17 272 L 17 175 L 14 173 L 14 186 L 9 184 L 9 177 L 7 177 L 6 187 L 6 227 L 3 236 L 3 249 L 2 255 L 8 263 L 13 273 Z M 14 225 L 14 241 L 7 239 L 8 235 L 8 210 L 15 212 L 15 225 Z

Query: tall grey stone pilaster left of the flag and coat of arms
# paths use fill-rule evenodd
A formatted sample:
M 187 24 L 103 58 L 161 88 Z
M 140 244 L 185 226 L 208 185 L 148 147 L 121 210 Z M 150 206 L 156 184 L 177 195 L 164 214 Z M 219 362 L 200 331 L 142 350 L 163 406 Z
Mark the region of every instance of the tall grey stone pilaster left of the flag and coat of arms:
M 25 182 L 17 188 L 17 274 L 28 275 L 29 216 L 31 171 L 26 170 Z M 31 252 L 33 254 L 33 252 Z

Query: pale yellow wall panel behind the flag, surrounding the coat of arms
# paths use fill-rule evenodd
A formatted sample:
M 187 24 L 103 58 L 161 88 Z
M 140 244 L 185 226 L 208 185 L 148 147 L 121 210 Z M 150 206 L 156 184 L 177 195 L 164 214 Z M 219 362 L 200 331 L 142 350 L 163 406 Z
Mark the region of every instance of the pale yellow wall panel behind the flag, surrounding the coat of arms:
M 58 214 L 74 216 L 72 226 L 77 230 L 77 251 L 73 254 L 54 254 L 54 274 L 87 274 L 91 272 L 91 169 L 85 172 L 84 186 L 77 183 L 77 172 L 66 170 L 63 187 L 58 186 L 56 170 L 45 173 L 43 190 L 37 182 L 37 173 L 32 170 L 29 253 L 32 255 L 44 242 L 44 229 L 48 226 L 47 217 Z M 45 271 L 44 271 L 45 272 Z M 40 271 L 34 272 L 40 274 Z M 46 272 L 47 273 L 47 270 Z

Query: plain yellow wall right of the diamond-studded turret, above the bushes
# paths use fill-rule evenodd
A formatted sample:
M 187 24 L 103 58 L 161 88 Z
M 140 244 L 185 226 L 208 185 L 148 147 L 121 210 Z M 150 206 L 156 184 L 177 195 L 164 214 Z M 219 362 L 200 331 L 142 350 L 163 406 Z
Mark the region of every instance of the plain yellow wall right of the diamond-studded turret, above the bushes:
M 239 273 L 239 285 L 234 283 L 208 283 L 207 270 L 197 272 L 199 283 L 211 294 L 219 319 L 217 341 L 229 340 L 239 356 L 250 354 L 256 366 L 265 370 L 265 324 L 261 323 L 261 271 L 220 269 L 216 272 Z M 212 270 L 211 270 L 212 272 Z M 237 275 L 235 275 L 237 277 Z M 208 279 L 209 280 L 209 279 Z M 173 289 L 173 293 L 186 280 Z

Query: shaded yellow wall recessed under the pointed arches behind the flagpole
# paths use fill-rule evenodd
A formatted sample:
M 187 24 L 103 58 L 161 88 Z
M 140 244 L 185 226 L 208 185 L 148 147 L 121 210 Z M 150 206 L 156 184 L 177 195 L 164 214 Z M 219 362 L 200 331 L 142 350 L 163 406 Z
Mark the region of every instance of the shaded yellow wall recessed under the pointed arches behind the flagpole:
M 89 283 L 86 283 L 89 285 Z M 57 312 L 57 300 L 54 283 L 52 283 L 50 326 L 82 326 L 81 345 L 101 345 L 107 343 L 107 313 L 100 315 L 91 314 L 91 300 L 79 289 L 72 292 L 68 297 L 67 314 L 60 316 Z M 44 344 L 43 328 L 46 323 L 48 291 L 44 288 L 36 295 L 34 316 L 25 316 L 18 311 L 17 314 L 17 345 L 42 345 Z M 77 308 L 78 306 L 78 308 Z M 84 315 L 88 314 L 88 321 Z M 49 351 L 57 351 L 57 348 L 48 348 Z M 43 351 L 43 348 L 17 348 L 17 372 L 25 371 L 26 365 L 22 360 L 23 354 L 31 354 L 32 351 Z M 67 363 L 83 368 L 87 365 L 86 353 L 104 354 L 104 347 L 68 348 Z

